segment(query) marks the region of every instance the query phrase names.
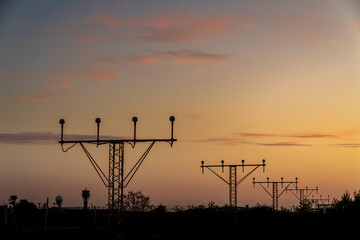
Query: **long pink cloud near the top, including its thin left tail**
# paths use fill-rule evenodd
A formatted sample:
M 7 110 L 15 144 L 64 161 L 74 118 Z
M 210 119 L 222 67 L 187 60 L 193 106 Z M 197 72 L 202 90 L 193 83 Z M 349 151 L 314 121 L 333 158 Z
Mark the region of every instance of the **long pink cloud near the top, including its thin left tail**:
M 163 11 L 140 17 L 96 15 L 88 22 L 107 27 L 123 27 L 141 41 L 148 42 L 207 42 L 230 32 L 242 32 L 252 21 L 237 21 L 234 17 L 203 14 L 194 11 L 173 13 Z

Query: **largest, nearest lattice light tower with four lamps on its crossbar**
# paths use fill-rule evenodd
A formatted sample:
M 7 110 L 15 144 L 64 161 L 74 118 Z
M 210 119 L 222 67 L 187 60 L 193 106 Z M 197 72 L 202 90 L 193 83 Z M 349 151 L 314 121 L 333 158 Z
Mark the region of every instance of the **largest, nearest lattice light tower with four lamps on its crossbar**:
M 60 119 L 59 123 L 61 125 L 61 140 L 59 143 L 61 144 L 63 152 L 67 152 L 70 148 L 79 144 L 86 156 L 90 160 L 90 163 L 94 167 L 96 173 L 100 177 L 103 184 L 108 189 L 108 212 L 109 212 L 109 225 L 114 224 L 115 228 L 118 230 L 117 237 L 122 238 L 123 233 L 123 214 L 124 214 L 124 188 L 128 186 L 135 173 L 144 162 L 146 156 L 154 146 L 156 142 L 167 142 L 172 147 L 173 143 L 177 141 L 174 138 L 174 121 L 175 117 L 170 117 L 171 122 L 171 138 L 161 138 L 161 139 L 138 139 L 136 137 L 136 124 L 137 117 L 133 117 L 132 121 L 134 123 L 134 137 L 131 138 L 115 138 L 115 139 L 100 139 L 100 118 L 95 119 L 95 123 L 97 124 L 97 135 L 96 139 L 92 140 L 64 140 L 64 124 L 65 120 Z M 125 175 L 124 165 L 124 150 L 125 144 L 129 144 L 132 148 L 135 148 L 136 143 L 150 143 L 149 147 L 140 157 L 140 159 L 134 164 L 131 170 Z M 64 149 L 65 144 L 72 144 L 67 149 Z M 104 171 L 99 167 L 96 163 L 95 159 L 91 156 L 89 151 L 86 149 L 85 144 L 95 144 L 97 147 L 101 145 L 108 145 L 109 148 L 109 169 L 108 176 L 105 175 Z M 110 229 L 112 227 L 110 226 Z

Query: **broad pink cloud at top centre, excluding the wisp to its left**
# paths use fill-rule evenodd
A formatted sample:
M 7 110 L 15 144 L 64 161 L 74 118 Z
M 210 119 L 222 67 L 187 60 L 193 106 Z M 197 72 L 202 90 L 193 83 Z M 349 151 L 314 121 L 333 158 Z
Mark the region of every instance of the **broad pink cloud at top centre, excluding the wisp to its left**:
M 252 23 L 233 24 L 229 16 L 203 15 L 195 12 L 172 14 L 164 12 L 131 19 L 137 38 L 150 42 L 207 42 L 228 31 L 244 31 Z

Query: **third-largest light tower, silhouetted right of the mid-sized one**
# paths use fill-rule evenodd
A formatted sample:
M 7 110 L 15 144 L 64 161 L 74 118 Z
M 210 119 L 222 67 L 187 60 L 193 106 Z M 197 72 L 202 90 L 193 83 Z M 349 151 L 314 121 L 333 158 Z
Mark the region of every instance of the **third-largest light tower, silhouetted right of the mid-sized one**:
M 279 198 L 281 197 L 281 195 L 285 192 L 285 190 L 290 187 L 290 185 L 295 186 L 295 188 L 297 188 L 297 178 L 295 178 L 295 181 L 284 181 L 283 178 L 281 178 L 281 181 L 269 181 L 269 178 L 267 178 L 267 181 L 264 182 L 256 182 L 255 178 L 253 178 L 253 185 L 255 188 L 255 184 L 259 184 L 264 190 L 265 192 L 272 198 L 273 200 L 273 209 L 274 210 L 278 210 L 279 209 Z M 272 193 L 270 193 L 263 184 L 267 184 L 267 188 L 269 188 L 269 185 L 272 185 Z M 283 191 L 281 191 L 279 193 L 279 184 L 281 184 L 281 187 L 284 187 L 284 184 L 286 184 L 285 188 Z

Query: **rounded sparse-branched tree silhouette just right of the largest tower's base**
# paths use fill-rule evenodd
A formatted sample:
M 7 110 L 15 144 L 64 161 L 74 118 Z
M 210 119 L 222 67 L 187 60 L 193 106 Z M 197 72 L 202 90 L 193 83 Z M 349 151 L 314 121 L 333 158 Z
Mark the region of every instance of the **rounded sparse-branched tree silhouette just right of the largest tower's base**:
M 145 196 L 142 192 L 129 191 L 124 195 L 124 207 L 132 212 L 145 212 L 151 209 L 150 197 Z

